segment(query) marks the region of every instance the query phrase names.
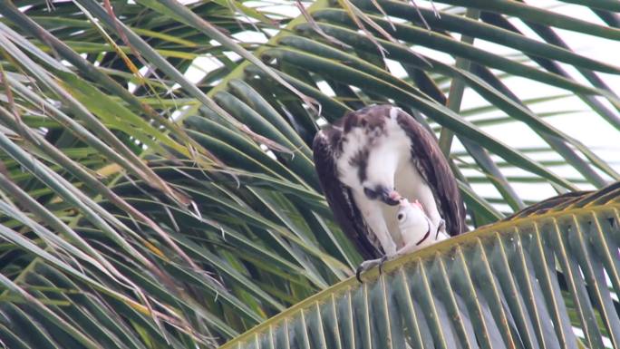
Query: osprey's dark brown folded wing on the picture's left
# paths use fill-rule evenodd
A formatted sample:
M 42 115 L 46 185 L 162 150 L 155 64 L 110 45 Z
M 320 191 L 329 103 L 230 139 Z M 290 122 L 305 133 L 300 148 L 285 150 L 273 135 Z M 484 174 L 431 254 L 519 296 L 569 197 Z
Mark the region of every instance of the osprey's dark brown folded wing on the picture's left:
M 338 179 L 334 162 L 334 149 L 331 144 L 336 144 L 334 138 L 339 138 L 339 131 L 328 129 L 319 132 L 313 142 L 316 172 L 318 173 L 321 187 L 325 192 L 325 199 L 334 212 L 336 222 L 344 233 L 357 246 L 357 250 L 364 259 L 381 257 L 382 254 L 368 239 L 368 231 L 363 222 L 362 214 L 354 205 L 351 189 L 344 186 Z M 329 135 L 329 136 L 326 136 Z M 330 141 L 332 140 L 332 141 Z

